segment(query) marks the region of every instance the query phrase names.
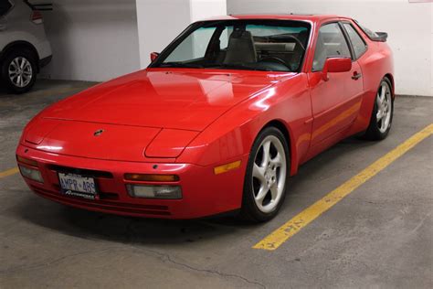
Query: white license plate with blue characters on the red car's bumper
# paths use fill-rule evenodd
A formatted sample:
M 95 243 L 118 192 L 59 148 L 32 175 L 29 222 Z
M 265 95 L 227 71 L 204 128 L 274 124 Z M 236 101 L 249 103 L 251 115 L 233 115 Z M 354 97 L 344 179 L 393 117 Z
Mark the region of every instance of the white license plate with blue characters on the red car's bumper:
M 91 199 L 97 196 L 95 179 L 93 177 L 58 173 L 58 180 L 65 195 Z

